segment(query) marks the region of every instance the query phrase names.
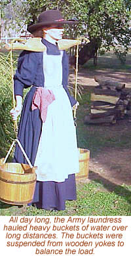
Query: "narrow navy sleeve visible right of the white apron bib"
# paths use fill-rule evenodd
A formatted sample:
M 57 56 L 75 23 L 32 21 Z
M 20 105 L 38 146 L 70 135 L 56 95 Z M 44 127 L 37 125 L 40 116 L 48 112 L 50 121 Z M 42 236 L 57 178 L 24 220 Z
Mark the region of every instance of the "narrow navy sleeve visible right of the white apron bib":
M 71 94 L 69 93 L 69 89 L 67 87 L 68 75 L 69 75 L 69 57 L 65 51 L 64 51 L 64 55 L 63 55 L 63 59 L 62 59 L 62 66 L 63 66 L 62 85 L 67 93 L 67 96 L 69 97 L 71 106 L 74 106 L 77 103 L 77 100 L 75 100 L 75 98 L 73 96 L 71 96 Z

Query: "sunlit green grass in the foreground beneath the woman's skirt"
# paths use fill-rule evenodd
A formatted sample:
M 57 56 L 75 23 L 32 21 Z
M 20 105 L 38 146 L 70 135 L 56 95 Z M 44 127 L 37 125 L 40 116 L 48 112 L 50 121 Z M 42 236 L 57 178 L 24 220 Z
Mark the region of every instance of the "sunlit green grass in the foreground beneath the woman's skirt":
M 117 216 L 131 215 L 131 186 L 116 186 L 108 191 L 99 180 L 88 184 L 77 184 L 77 201 L 66 202 L 65 211 L 45 211 L 33 206 L 26 210 L 16 205 L 7 205 L 0 202 L 0 215 L 26 216 Z

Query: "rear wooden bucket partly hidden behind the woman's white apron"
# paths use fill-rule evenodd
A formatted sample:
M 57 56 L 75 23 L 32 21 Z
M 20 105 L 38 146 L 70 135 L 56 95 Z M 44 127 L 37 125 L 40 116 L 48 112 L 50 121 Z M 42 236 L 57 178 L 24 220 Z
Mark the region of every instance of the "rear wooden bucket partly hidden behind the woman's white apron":
M 76 179 L 88 178 L 89 159 L 90 159 L 90 150 L 79 148 L 79 173 L 75 174 Z

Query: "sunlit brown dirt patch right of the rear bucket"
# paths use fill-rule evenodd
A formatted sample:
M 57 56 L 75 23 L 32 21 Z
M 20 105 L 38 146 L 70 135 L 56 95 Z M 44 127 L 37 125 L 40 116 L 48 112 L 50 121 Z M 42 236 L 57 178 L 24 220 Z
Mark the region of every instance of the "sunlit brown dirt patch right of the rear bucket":
M 104 152 L 96 158 L 90 158 L 88 179 L 102 179 L 112 184 L 131 184 L 130 150 L 112 150 L 104 148 Z

